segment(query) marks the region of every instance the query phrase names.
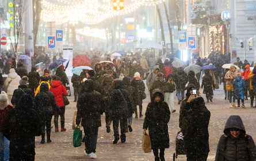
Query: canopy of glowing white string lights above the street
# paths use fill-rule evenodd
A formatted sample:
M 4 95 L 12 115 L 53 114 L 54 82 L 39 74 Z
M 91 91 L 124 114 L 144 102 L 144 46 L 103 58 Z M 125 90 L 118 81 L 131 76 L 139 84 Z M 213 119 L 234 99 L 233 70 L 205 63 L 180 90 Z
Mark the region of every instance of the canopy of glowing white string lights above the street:
M 125 5 L 123 10 L 113 10 L 112 2 L 106 0 L 102 0 L 102 4 L 98 3 L 98 0 L 58 0 L 63 5 L 43 0 L 41 1 L 43 6 L 41 19 L 46 22 L 56 22 L 56 24 L 63 24 L 65 22 L 77 24 L 78 22 L 83 22 L 93 25 L 110 17 L 131 13 L 142 5 L 154 5 L 164 1 L 133 0 L 131 4 Z

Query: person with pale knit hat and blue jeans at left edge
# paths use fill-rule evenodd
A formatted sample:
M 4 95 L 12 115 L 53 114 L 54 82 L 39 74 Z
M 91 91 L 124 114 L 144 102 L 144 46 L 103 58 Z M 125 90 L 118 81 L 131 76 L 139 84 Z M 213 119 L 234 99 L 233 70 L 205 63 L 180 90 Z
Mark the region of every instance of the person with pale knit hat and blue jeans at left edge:
M 2 133 L 3 121 L 8 116 L 13 106 L 9 105 L 8 95 L 5 91 L 0 94 L 0 160 L 9 160 L 9 140 Z M 5 158 L 5 159 L 4 159 Z

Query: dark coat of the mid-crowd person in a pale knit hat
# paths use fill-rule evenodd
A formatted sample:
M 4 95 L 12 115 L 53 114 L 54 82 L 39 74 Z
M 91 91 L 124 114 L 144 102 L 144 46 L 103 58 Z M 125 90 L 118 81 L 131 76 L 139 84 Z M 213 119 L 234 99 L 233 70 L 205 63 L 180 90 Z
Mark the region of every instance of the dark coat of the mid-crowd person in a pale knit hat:
M 134 105 L 140 105 L 142 104 L 142 94 L 145 91 L 145 84 L 142 81 L 142 79 L 136 80 L 132 79 L 131 82 L 132 86 L 132 98 L 133 98 L 133 104 Z

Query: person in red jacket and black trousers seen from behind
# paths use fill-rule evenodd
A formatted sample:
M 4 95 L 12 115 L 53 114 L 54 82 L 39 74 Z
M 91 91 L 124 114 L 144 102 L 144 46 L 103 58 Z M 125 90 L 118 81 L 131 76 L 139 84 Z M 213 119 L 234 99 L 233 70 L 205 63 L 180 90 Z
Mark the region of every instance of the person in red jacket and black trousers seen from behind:
M 66 128 L 64 128 L 65 124 L 65 105 L 63 101 L 63 95 L 68 95 L 66 88 L 62 85 L 62 82 L 60 82 L 59 76 L 52 76 L 52 86 L 49 89 L 52 93 L 54 93 L 54 97 L 56 99 L 57 105 L 60 108 L 61 114 L 60 114 L 60 126 L 62 132 L 66 131 Z M 59 120 L 59 114 L 57 112 L 54 113 L 54 125 L 55 125 L 55 132 L 59 132 L 58 127 L 58 121 Z

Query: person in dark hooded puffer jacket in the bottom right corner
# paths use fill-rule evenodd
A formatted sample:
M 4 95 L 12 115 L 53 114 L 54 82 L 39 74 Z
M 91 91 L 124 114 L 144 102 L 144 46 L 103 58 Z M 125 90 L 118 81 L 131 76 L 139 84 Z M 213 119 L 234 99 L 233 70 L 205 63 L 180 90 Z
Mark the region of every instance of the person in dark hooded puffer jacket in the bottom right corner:
M 217 145 L 215 161 L 256 160 L 253 137 L 246 134 L 240 116 L 230 116 Z

